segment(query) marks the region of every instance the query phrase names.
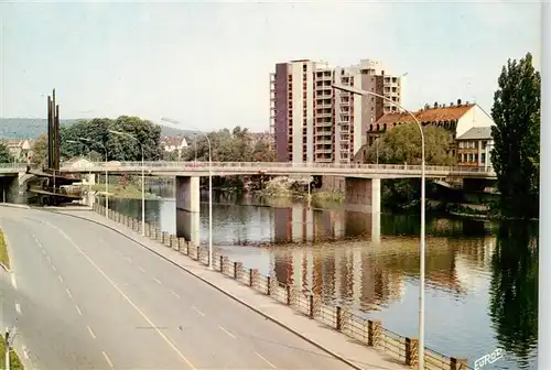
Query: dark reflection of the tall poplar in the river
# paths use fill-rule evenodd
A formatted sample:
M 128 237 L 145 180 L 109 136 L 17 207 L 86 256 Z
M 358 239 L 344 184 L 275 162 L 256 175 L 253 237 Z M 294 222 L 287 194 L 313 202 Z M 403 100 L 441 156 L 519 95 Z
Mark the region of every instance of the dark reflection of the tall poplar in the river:
M 497 340 L 526 361 L 538 348 L 537 225 L 501 222 L 491 272 L 489 316 Z

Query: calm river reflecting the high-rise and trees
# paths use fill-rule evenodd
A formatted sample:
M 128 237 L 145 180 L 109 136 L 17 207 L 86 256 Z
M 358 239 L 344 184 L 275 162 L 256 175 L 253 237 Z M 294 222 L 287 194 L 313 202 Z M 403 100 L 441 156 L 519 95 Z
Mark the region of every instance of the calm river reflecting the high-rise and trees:
M 147 221 L 175 232 L 171 189 L 147 200 Z M 110 208 L 140 218 L 141 200 L 110 199 Z M 213 240 L 235 260 L 284 283 L 347 305 L 402 336 L 417 337 L 419 216 L 383 214 L 370 241 L 370 215 L 271 207 L 258 199 L 218 196 Z M 489 222 L 428 215 L 425 342 L 469 366 L 496 348 L 505 358 L 486 368 L 537 369 L 537 224 Z M 208 238 L 208 206 L 201 239 Z

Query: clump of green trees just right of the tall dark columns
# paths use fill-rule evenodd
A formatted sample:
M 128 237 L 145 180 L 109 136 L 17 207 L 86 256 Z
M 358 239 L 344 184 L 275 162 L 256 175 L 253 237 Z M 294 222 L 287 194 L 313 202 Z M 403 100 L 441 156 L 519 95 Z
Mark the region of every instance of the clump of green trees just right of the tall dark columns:
M 109 130 L 128 133 L 134 139 L 111 133 Z M 141 145 L 145 161 L 158 161 L 163 154 L 161 128 L 138 117 L 80 120 L 69 127 L 62 127 L 60 137 L 62 161 L 87 155 L 93 160 L 105 161 L 106 148 L 109 161 L 141 161 Z M 82 138 L 90 141 L 87 142 Z

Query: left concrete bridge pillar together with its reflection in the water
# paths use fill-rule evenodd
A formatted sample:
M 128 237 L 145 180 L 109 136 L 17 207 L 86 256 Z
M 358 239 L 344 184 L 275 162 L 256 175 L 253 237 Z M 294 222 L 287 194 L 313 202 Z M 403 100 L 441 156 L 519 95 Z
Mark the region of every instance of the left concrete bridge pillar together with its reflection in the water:
M 176 236 L 199 244 L 199 177 L 176 176 Z

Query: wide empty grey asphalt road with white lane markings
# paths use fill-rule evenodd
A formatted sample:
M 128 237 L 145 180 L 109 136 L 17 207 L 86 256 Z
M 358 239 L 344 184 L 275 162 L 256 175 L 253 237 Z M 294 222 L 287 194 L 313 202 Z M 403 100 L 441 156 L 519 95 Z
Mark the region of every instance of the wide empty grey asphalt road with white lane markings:
M 119 233 L 0 207 L 3 320 L 32 368 L 349 369 Z

